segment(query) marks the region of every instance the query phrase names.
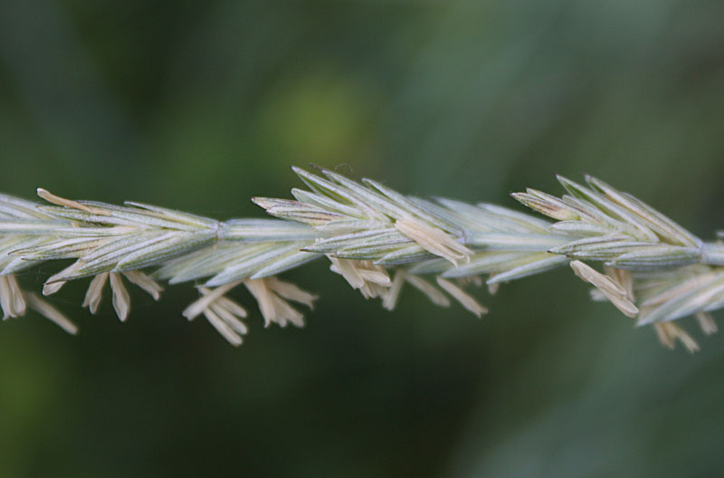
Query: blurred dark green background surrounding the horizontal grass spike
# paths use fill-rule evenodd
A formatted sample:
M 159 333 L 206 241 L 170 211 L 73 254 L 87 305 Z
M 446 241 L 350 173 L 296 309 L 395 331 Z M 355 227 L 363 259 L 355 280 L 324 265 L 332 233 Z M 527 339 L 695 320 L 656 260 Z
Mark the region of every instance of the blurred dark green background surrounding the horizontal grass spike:
M 289 196 L 291 165 L 518 207 L 587 172 L 695 234 L 724 226 L 724 4 L 699 0 L 0 0 L 0 189 L 217 218 Z M 522 210 L 522 208 L 520 208 Z M 40 287 L 57 270 L 24 274 Z M 303 330 L 233 349 L 85 283 L 0 333 L 0 475 L 712 476 L 724 337 L 662 349 L 566 270 L 394 313 L 324 263 Z M 721 313 L 718 314 L 721 319 Z

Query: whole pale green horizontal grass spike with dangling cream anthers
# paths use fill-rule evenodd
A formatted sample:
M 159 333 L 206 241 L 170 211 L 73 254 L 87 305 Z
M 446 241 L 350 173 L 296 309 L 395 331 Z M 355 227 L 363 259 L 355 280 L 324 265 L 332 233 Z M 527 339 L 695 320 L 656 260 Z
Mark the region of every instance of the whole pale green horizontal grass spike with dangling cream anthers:
M 564 177 L 564 196 L 535 189 L 512 196 L 553 222 L 491 204 L 404 196 L 370 179 L 319 168 L 293 168 L 306 186 L 294 199 L 254 197 L 273 218 L 215 219 L 141 203 L 74 201 L 38 189 L 45 205 L 0 196 L 0 306 L 4 319 L 40 312 L 64 330 L 77 328 L 16 274 L 39 263 L 72 263 L 43 285 L 43 295 L 90 278 L 82 302 L 99 311 L 110 286 L 119 320 L 127 320 L 134 284 L 155 300 L 160 282 L 192 282 L 199 298 L 183 315 L 205 317 L 233 345 L 248 332 L 248 312 L 231 298 L 237 287 L 257 301 L 264 326 L 304 325 L 297 303 L 317 296 L 278 275 L 317 259 L 366 299 L 392 311 L 405 286 L 435 305 L 452 301 L 478 317 L 487 312 L 465 287 L 502 282 L 569 265 L 639 326 L 653 324 L 667 347 L 697 343 L 674 323 L 694 316 L 717 330 L 711 311 L 724 307 L 724 245 L 704 242 L 635 197 L 586 177 Z M 719 233 L 719 237 L 722 237 Z M 596 268 L 596 263 L 600 268 Z

